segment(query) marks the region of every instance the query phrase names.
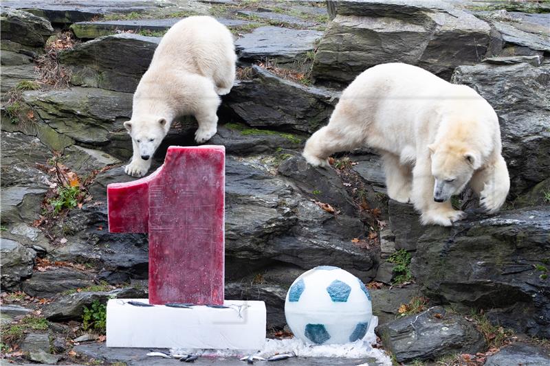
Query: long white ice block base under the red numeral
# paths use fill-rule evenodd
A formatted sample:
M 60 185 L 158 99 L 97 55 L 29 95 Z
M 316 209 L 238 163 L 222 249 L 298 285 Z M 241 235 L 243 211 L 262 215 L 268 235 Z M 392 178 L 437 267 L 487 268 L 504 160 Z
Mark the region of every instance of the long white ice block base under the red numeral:
M 260 350 L 265 342 L 263 301 L 225 300 L 230 308 L 107 303 L 107 347 Z

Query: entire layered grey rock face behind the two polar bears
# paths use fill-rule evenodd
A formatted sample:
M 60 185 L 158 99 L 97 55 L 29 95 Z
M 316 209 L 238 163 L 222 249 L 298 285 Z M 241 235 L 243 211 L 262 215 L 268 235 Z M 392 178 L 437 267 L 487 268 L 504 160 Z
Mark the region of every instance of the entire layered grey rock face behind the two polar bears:
M 222 98 L 218 133 L 209 141 L 227 152 L 226 298 L 265 301 L 268 328 L 283 330 L 289 285 L 309 268 L 333 265 L 374 280 L 377 332 L 399 362 L 483 352 L 483 337 L 461 315 L 472 310 L 497 327 L 550 337 L 548 14 L 456 1 L 345 0 L 325 8 L 320 1 L 159 7 L 122 0 L 121 13 L 109 2 L 4 3 L 2 96 L 9 103 L 1 121 L 0 285 L 47 299 L 33 306 L 50 321 L 80 320 L 85 307 L 111 296 L 146 297 L 147 237 L 108 232 L 106 188 L 133 180 L 124 174 L 132 150 L 122 123 L 162 32 L 183 16 L 210 12 L 232 30 L 239 54 L 239 80 Z M 80 39 L 56 50 L 52 64 L 66 71 L 68 85 L 49 87 L 34 62 L 69 27 Z M 388 200 L 377 152 L 337 154 L 328 169 L 300 157 L 345 85 L 382 62 L 407 62 L 467 84 L 494 107 L 511 177 L 500 214 L 468 209 L 451 228 L 422 227 L 412 205 Z M 196 128 L 192 117 L 179 118 L 152 169 L 168 146 L 192 146 Z M 59 170 L 76 174 L 87 198 L 52 215 L 52 200 L 67 183 Z M 461 198 L 456 205 L 475 206 Z M 399 286 L 397 254 L 412 257 L 404 264 L 412 277 Z M 423 297 L 429 308 L 401 316 L 402 306 Z M 448 332 L 440 334 L 441 327 Z M 32 334 L 27 343 L 45 335 Z M 412 337 L 421 337 L 418 347 L 407 343 Z M 491 362 L 503 364 L 529 347 L 509 347 Z

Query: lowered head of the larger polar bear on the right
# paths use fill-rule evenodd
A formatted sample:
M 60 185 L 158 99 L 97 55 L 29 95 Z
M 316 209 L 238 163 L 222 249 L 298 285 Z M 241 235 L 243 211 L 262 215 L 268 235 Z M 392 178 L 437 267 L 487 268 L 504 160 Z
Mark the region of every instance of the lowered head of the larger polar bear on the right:
M 432 157 L 434 201 L 448 201 L 462 192 L 479 168 L 481 156 L 466 144 L 432 144 L 428 146 Z

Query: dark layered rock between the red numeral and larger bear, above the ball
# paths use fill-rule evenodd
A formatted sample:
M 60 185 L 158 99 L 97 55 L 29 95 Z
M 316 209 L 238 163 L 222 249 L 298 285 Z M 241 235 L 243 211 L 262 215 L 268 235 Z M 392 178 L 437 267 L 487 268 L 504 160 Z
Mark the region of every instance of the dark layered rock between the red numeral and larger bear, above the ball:
M 286 165 L 292 160 L 280 165 L 285 174 L 300 173 Z M 362 222 L 344 214 L 344 207 L 337 206 L 342 214 L 335 217 L 298 194 L 292 185 L 296 186 L 294 179 L 303 179 L 302 176 L 287 181 L 230 157 L 225 174 L 225 255 L 229 276 L 240 273 L 242 277 L 261 266 L 269 268 L 273 262 L 305 270 L 327 264 L 330 258 L 331 265 L 364 281 L 374 277 L 378 260 L 375 249 L 362 249 L 351 242 L 364 235 Z M 312 176 L 319 179 L 321 175 Z M 327 192 L 337 191 L 338 187 Z M 349 199 L 338 194 L 333 197 L 342 203 Z

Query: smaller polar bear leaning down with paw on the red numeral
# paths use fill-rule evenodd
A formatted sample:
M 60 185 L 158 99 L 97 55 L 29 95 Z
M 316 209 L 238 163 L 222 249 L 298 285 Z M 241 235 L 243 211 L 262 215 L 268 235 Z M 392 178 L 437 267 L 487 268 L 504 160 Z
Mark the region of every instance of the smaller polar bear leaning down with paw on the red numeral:
M 235 62 L 231 32 L 210 16 L 190 16 L 166 32 L 137 85 L 132 117 L 124 122 L 133 146 L 126 174 L 146 174 L 175 117 L 195 115 L 199 144 L 216 134 L 219 95 L 233 86 Z

